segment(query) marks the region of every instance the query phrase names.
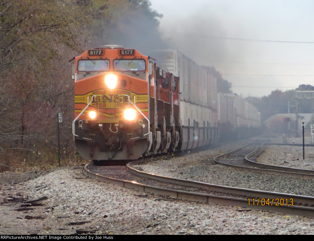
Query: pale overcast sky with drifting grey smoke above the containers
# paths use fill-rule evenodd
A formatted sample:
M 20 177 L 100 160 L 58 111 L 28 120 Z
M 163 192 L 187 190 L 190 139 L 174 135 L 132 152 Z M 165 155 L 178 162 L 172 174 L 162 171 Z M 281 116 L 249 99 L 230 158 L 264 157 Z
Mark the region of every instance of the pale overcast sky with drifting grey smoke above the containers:
M 151 0 L 160 32 L 246 96 L 314 85 L 313 0 Z

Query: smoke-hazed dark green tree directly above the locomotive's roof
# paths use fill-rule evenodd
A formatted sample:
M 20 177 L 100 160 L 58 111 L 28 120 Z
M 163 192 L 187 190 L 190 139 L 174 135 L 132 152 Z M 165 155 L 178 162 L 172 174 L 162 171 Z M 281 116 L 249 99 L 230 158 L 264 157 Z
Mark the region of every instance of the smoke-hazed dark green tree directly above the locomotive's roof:
M 91 29 L 89 46 L 107 44 L 134 48 L 143 54 L 151 49 L 169 48 L 158 31 L 162 15 L 150 8 L 148 0 L 127 0 L 113 8 L 110 18 L 99 18 Z

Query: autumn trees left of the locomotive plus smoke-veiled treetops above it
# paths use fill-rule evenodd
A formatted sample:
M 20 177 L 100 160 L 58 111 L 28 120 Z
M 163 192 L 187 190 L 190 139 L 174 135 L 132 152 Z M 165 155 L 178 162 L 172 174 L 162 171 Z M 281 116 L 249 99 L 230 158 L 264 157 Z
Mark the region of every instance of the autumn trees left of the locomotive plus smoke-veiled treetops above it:
M 130 47 L 137 48 L 161 42 L 159 17 L 146 0 L 1 1 L 0 165 L 15 154 L 26 161 L 53 160 L 60 111 L 63 156 L 74 153 L 74 83 L 65 63 L 92 44 L 133 38 L 137 45 Z

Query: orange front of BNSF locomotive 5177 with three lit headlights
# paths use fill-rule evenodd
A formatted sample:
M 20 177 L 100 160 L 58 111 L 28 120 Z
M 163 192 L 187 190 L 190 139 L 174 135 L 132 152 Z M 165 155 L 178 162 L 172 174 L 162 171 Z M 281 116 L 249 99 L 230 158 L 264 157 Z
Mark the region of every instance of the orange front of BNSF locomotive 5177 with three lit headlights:
M 148 57 L 122 46 L 103 46 L 75 61 L 73 135 L 78 153 L 93 160 L 143 156 L 151 141 Z

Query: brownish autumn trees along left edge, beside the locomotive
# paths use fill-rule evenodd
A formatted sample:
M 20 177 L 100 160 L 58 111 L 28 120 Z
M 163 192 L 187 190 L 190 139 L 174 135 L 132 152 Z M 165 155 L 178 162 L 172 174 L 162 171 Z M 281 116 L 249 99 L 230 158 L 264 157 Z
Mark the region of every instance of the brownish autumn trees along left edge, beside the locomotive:
M 63 125 L 69 140 L 73 81 L 64 63 L 86 48 L 81 25 L 106 12 L 100 0 L 90 8 L 72 0 L 0 2 L 0 164 L 8 155 L 36 159 L 39 149 L 54 149 L 60 109 L 70 113 Z

